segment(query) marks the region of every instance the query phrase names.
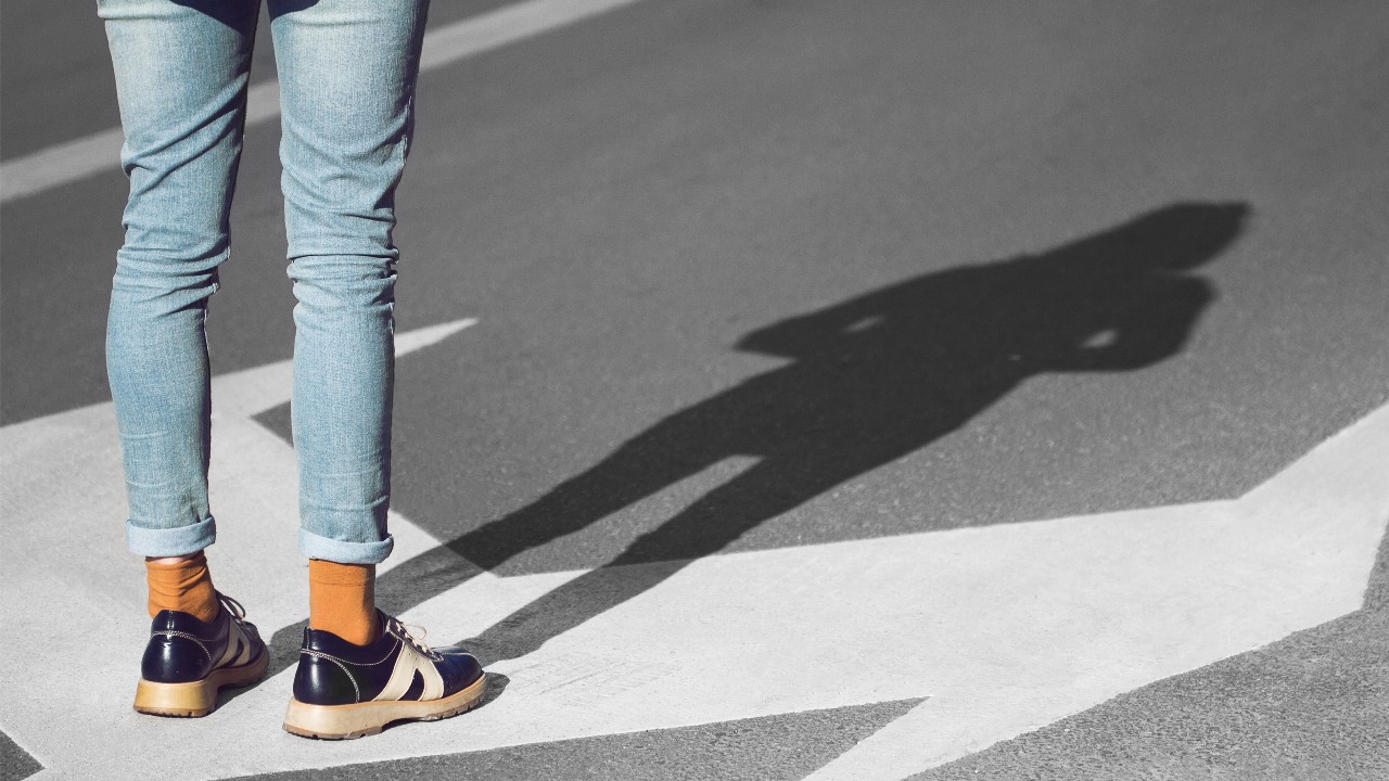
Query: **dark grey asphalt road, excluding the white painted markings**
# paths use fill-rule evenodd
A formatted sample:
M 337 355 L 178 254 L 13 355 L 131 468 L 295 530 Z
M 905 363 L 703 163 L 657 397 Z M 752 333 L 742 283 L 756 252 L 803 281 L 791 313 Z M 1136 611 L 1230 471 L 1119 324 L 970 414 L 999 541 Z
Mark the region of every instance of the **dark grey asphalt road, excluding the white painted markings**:
M 3 21 L 0 158 L 117 124 L 88 4 Z M 644 0 L 429 71 L 397 317 L 478 324 L 400 360 L 394 507 L 522 577 L 1239 498 L 1389 400 L 1385 31 L 1372 1 Z M 250 128 L 218 374 L 290 356 L 276 145 Z M 108 400 L 122 200 L 113 161 L 0 211 L 6 425 Z M 1358 613 L 921 778 L 1382 774 L 1385 566 Z M 390 578 L 399 609 L 454 585 Z M 913 705 L 343 773 L 801 778 Z

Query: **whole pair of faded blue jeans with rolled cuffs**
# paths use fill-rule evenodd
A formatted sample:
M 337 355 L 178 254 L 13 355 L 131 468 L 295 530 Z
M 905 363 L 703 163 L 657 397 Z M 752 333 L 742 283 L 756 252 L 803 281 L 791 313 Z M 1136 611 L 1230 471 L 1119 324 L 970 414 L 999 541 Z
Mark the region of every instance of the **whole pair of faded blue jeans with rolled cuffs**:
M 294 297 L 300 550 L 386 559 L 394 190 L 428 0 L 268 0 Z M 260 0 L 99 0 L 131 179 L 107 327 L 131 550 L 215 539 L 204 320 L 231 252 Z

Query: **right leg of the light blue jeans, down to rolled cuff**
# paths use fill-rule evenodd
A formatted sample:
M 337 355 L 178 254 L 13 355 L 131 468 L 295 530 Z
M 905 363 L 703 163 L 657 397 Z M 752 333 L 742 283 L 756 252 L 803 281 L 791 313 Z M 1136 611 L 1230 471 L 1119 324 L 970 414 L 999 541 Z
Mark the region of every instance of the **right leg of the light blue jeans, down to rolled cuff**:
M 413 129 L 426 1 L 272 0 L 294 282 L 300 550 L 390 553 L 394 190 Z

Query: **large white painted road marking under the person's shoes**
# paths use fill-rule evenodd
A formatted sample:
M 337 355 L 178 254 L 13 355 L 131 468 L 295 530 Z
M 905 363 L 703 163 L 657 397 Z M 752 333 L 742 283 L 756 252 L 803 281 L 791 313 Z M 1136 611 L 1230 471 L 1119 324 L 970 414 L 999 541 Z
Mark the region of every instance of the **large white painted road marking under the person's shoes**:
M 304 578 L 286 575 L 303 567 L 293 453 L 247 420 L 283 403 L 288 379 L 275 364 L 214 389 L 210 554 L 267 635 L 307 603 Z M 1238 500 L 703 559 L 493 666 L 511 685 L 478 713 L 322 743 L 279 728 L 290 671 L 210 718 L 129 712 L 144 595 L 139 561 L 119 553 L 113 431 L 110 404 L 0 429 L 14 541 L 0 550 L 0 725 L 47 767 L 40 778 L 139 778 L 154 753 L 218 778 L 929 696 L 817 775 L 901 778 L 1356 610 L 1389 516 L 1385 406 Z M 392 524 L 393 563 L 436 545 Z M 71 553 L 61 573 L 35 554 L 57 549 Z M 471 636 L 581 574 L 483 574 L 406 617 Z M 54 631 L 111 653 L 74 677 L 63 655 L 26 645 Z

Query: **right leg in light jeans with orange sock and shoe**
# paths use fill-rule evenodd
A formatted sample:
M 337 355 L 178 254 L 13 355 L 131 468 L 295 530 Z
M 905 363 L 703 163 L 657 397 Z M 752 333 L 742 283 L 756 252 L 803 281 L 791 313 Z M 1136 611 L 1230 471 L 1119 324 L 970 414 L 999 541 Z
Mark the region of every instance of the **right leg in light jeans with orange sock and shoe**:
M 300 550 L 310 559 L 290 732 L 351 738 L 476 705 L 478 660 L 431 649 L 375 609 L 390 553 L 394 192 L 428 0 L 271 0 L 285 224 L 294 282 Z

